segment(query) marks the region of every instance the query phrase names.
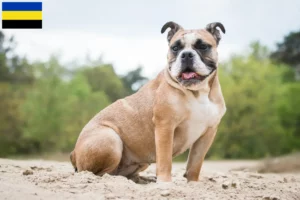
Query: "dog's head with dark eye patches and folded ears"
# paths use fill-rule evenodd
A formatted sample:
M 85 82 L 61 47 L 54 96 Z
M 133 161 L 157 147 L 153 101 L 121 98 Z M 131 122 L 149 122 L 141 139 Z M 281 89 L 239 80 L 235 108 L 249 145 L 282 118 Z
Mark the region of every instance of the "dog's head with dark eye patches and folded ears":
M 161 33 L 168 28 L 170 75 L 183 87 L 198 90 L 201 83 L 217 69 L 217 46 L 221 40 L 217 28 L 223 33 L 225 28 L 221 23 L 215 22 L 208 24 L 206 29 L 184 30 L 175 22 L 167 22 Z

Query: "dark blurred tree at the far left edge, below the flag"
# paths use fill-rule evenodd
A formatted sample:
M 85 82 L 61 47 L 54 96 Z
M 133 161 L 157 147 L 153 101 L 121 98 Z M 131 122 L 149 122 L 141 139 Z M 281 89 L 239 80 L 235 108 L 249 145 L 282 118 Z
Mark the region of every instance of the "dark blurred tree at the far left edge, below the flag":
M 27 152 L 20 105 L 34 76 L 26 59 L 15 55 L 15 45 L 0 31 L 0 156 Z

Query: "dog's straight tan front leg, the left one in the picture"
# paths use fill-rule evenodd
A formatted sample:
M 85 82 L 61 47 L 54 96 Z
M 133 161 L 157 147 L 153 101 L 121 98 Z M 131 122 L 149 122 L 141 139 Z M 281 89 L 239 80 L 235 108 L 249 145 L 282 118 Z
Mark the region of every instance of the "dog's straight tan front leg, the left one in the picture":
M 156 124 L 155 146 L 156 146 L 156 176 L 158 182 L 169 182 L 172 171 L 174 129 L 169 125 Z

